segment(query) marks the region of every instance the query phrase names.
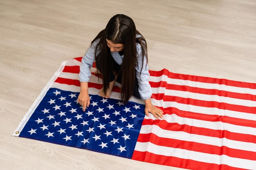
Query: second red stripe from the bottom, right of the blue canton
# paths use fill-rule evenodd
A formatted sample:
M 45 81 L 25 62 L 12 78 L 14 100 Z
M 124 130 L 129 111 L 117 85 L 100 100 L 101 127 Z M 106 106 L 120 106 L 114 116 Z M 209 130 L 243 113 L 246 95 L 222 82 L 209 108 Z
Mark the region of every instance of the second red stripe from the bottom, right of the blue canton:
M 228 148 L 227 146 L 214 146 L 209 144 L 201 144 L 193 141 L 182 141 L 178 139 L 169 139 L 158 137 L 153 133 L 139 134 L 138 142 L 150 142 L 158 146 L 165 146 L 171 148 L 180 148 L 185 150 L 192 150 L 195 152 L 203 152 L 215 155 L 227 155 L 229 157 L 249 159 L 256 161 L 256 152 Z

